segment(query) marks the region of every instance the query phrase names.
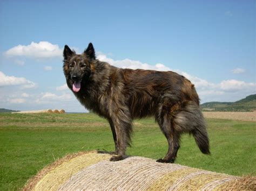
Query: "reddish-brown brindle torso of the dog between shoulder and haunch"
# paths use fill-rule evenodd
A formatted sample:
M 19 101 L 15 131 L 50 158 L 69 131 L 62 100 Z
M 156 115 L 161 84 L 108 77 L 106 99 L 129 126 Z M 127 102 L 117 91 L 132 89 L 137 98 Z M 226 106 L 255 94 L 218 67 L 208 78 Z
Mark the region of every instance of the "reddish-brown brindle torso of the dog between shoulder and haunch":
M 194 85 L 184 76 L 171 71 L 122 70 L 127 105 L 133 118 L 156 115 L 158 107 L 182 108 L 187 101 L 199 105 Z M 179 106 L 178 106 L 179 105 Z M 174 107 L 172 111 L 176 110 Z

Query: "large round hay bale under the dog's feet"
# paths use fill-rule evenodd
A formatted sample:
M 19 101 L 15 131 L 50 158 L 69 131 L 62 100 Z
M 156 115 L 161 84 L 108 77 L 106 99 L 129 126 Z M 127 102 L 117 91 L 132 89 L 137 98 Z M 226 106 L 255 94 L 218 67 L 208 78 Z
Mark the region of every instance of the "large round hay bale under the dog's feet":
M 117 162 L 110 157 L 96 151 L 65 156 L 31 178 L 23 190 L 256 189 L 253 176 L 242 178 L 140 156 Z

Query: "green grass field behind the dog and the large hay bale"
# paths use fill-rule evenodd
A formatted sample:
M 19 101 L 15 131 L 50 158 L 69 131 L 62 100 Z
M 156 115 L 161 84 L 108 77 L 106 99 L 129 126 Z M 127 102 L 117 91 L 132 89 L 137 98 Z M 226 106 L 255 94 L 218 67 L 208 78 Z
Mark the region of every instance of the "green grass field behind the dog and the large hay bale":
M 211 155 L 184 134 L 176 163 L 232 175 L 256 175 L 255 122 L 209 119 Z M 0 113 L 0 190 L 17 190 L 40 169 L 66 154 L 113 151 L 107 122 L 95 114 Z M 153 118 L 134 121 L 128 155 L 159 159 L 167 141 Z

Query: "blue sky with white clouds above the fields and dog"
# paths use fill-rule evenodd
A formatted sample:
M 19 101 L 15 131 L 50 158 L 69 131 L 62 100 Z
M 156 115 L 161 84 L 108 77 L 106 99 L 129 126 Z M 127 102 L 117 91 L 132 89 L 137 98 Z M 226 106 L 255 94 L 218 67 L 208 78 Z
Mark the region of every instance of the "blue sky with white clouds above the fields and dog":
M 255 1 L 0 1 L 0 107 L 83 112 L 65 44 L 132 69 L 173 70 L 201 103 L 256 93 Z

